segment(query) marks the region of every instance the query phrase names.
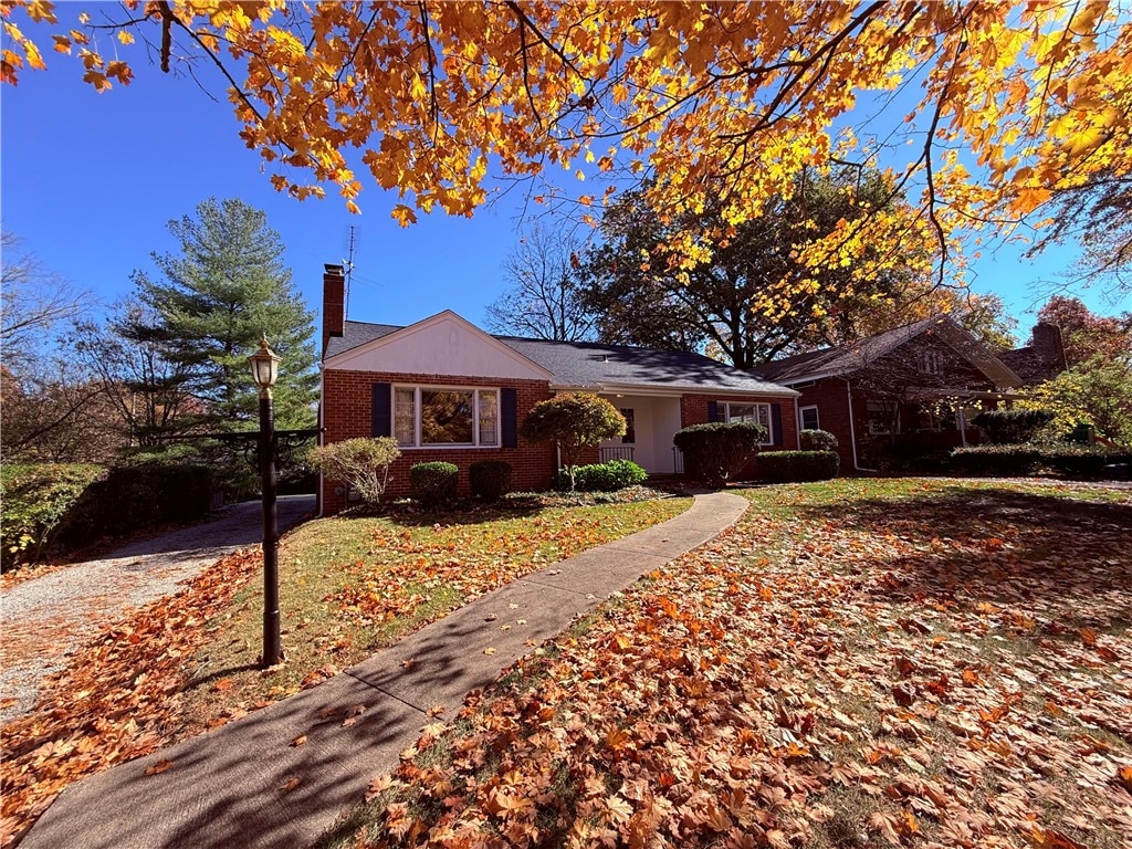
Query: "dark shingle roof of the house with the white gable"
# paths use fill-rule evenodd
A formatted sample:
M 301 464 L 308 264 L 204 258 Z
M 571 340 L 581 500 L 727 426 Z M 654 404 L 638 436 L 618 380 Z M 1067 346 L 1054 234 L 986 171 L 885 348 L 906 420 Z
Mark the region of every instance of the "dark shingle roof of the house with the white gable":
M 401 327 L 346 321 L 343 335 L 331 338 L 326 358 L 335 357 Z M 658 351 L 597 342 L 548 342 L 495 336 L 505 345 L 554 375 L 561 387 L 640 386 L 667 389 L 715 389 L 760 395 L 794 395 L 778 384 L 696 353 Z

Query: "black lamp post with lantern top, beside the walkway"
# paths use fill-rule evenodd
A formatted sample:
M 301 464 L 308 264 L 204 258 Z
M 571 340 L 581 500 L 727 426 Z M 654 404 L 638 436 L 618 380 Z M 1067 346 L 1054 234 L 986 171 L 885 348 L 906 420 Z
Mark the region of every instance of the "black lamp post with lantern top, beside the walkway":
M 251 376 L 259 387 L 259 477 L 264 494 L 264 669 L 283 660 L 280 645 L 280 571 L 278 516 L 275 511 L 275 410 L 272 386 L 278 377 L 278 357 L 267 346 L 267 336 L 259 350 L 248 358 Z

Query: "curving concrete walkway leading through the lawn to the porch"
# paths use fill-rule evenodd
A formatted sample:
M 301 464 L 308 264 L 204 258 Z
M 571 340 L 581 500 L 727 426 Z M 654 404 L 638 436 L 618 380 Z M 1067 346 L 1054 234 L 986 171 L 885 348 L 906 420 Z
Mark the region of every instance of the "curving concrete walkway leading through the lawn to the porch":
M 480 597 L 318 687 L 93 775 L 62 792 L 20 849 L 307 847 L 396 767 L 429 707 L 455 717 L 469 691 L 531 651 L 528 641 L 557 635 L 746 507 L 727 492 L 696 496 L 679 516 Z M 145 774 L 162 761 L 172 765 Z

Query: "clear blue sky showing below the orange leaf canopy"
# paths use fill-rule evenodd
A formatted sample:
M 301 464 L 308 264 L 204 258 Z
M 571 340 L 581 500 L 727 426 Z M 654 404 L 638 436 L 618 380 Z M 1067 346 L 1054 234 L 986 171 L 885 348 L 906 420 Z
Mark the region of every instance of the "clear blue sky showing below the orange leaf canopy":
M 18 87 L 0 89 L 0 215 L 3 229 L 50 269 L 109 303 L 131 289 L 135 268 L 151 269 L 151 251 L 173 251 L 170 218 L 209 197 L 239 197 L 267 213 L 286 247 L 298 289 L 319 308 L 324 263 L 346 256 L 350 228 L 357 250 L 351 318 L 408 324 L 441 309 L 482 323 L 483 308 L 505 288 L 500 268 L 514 248 L 520 197 L 513 192 L 472 220 L 421 215 L 400 228 L 396 203 L 366 182 L 362 215 L 351 215 L 328 189 L 325 200 L 298 201 L 276 192 L 245 147 L 239 125 L 215 82 L 211 100 L 192 79 L 164 75 L 140 51 L 135 82 L 97 94 L 72 59 L 49 54 L 46 72 L 25 71 Z M 976 292 L 1001 294 L 1028 334 L 1040 306 L 1041 281 L 1055 281 L 1072 251 L 1031 263 L 1005 246 L 971 263 Z M 1098 312 L 1095 290 L 1074 291 Z

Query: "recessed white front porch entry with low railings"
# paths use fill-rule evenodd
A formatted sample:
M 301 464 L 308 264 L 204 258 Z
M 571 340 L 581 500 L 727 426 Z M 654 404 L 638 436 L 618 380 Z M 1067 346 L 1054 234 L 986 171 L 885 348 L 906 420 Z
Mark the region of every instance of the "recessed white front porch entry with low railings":
M 628 395 L 601 393 L 601 397 L 625 417 L 625 436 L 606 439 L 599 446 L 602 463 L 610 460 L 632 460 L 649 474 L 679 474 L 684 464 L 678 456 L 672 437 L 680 429 L 680 398 L 678 395 Z

